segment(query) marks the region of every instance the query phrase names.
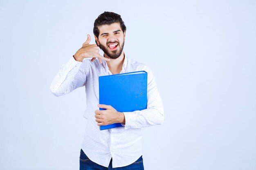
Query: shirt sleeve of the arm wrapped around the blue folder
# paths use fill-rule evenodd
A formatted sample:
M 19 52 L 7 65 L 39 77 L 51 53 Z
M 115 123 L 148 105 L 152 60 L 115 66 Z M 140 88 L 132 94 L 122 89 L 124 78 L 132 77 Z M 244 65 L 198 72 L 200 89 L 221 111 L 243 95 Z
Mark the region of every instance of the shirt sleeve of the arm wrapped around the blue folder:
M 162 124 L 164 121 L 164 106 L 157 90 L 155 77 L 148 66 L 144 69 L 148 73 L 147 108 L 133 112 L 124 112 L 125 129 L 143 128 Z

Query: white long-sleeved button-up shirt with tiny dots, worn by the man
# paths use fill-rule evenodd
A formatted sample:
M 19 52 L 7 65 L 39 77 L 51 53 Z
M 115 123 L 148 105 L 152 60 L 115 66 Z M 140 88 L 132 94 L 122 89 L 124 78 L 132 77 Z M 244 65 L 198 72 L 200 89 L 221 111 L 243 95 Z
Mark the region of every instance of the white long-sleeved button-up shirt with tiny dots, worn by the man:
M 87 107 L 83 116 L 88 119 L 81 148 L 88 158 L 101 166 L 108 167 L 112 157 L 112 167 L 128 166 L 142 155 L 141 128 L 162 124 L 164 107 L 158 93 L 155 78 L 150 68 L 124 57 L 121 73 L 146 71 L 148 73 L 147 108 L 124 112 L 125 124 L 118 128 L 99 130 L 95 121 L 95 110 L 99 104 L 99 76 L 112 75 L 105 60 L 91 62 L 86 58 L 78 62 L 71 57 L 63 64 L 54 77 L 50 91 L 55 96 L 65 95 L 85 86 Z M 102 103 L 103 104 L 103 103 Z

